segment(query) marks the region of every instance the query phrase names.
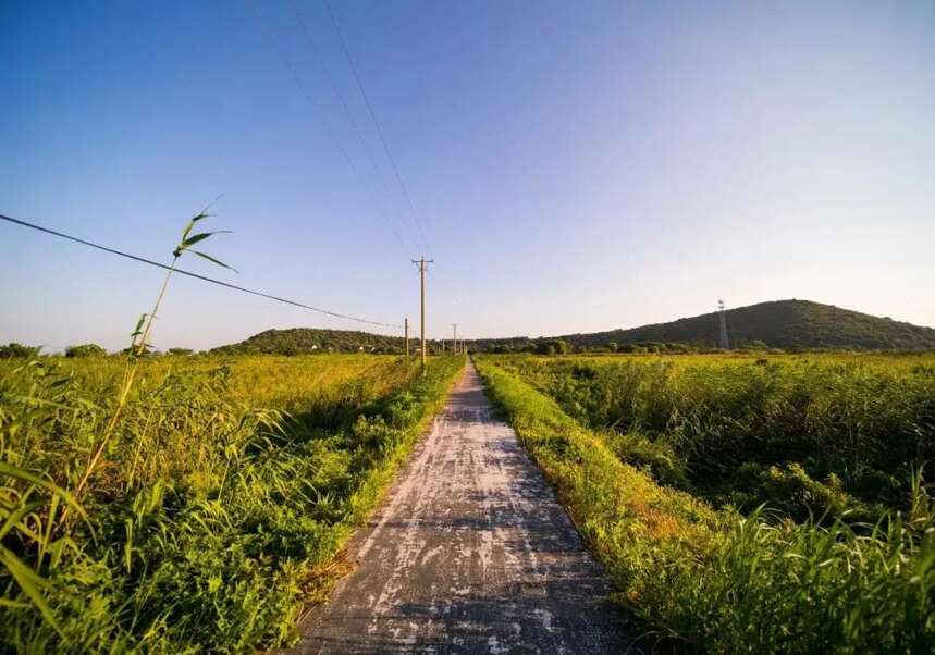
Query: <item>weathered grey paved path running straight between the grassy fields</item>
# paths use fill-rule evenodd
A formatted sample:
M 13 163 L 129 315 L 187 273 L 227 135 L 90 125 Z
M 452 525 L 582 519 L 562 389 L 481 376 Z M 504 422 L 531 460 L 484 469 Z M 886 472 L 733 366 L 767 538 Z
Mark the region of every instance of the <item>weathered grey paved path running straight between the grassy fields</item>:
M 472 363 L 297 653 L 622 653 L 611 586 Z

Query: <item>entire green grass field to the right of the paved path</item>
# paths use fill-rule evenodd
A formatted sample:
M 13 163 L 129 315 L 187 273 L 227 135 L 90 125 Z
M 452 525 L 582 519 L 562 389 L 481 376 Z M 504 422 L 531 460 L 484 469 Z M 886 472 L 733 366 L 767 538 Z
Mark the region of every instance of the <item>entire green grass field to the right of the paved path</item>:
M 661 642 L 935 647 L 935 358 L 476 359 Z

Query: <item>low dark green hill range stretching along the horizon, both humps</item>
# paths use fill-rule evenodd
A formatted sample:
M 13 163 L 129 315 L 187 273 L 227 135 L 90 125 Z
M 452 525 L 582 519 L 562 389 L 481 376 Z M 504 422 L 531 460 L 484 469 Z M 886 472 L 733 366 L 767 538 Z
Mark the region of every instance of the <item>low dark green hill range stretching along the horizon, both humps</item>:
M 466 341 L 468 349 L 536 350 L 558 339 L 576 350 L 606 349 L 657 344 L 679 344 L 713 348 L 717 344 L 716 312 L 657 323 L 590 334 L 566 334 L 557 337 L 513 337 Z M 922 328 L 879 318 L 833 305 L 809 300 L 775 300 L 727 311 L 727 332 L 731 347 L 765 345 L 784 349 L 858 349 L 858 350 L 935 350 L 935 329 Z M 386 336 L 350 330 L 294 328 L 267 330 L 238 344 L 216 348 L 216 353 L 271 353 L 299 355 L 309 353 L 402 353 L 401 336 Z M 451 344 L 446 344 L 450 347 Z M 411 338 L 413 351 L 417 339 Z M 430 341 L 432 351 L 441 342 Z

